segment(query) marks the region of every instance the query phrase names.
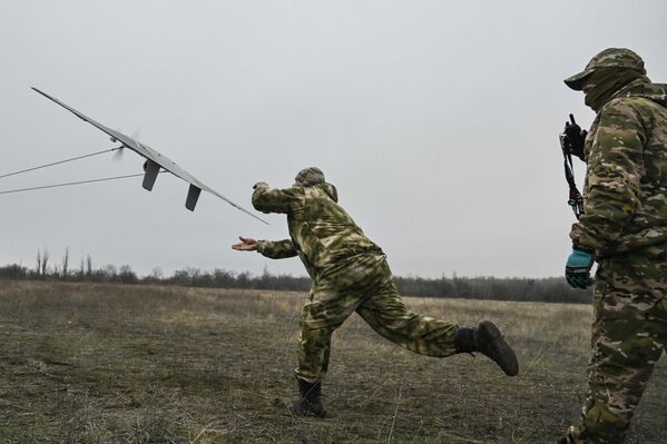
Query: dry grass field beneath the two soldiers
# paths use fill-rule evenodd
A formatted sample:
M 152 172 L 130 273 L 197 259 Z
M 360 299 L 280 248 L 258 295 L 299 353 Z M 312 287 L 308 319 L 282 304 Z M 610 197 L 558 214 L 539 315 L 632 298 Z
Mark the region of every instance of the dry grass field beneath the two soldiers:
M 521 362 L 412 354 L 356 315 L 334 334 L 326 420 L 293 417 L 304 294 L 0 282 L 1 443 L 555 443 L 586 383 L 590 309 L 406 298 L 490 318 Z M 658 365 L 629 443 L 667 443 Z

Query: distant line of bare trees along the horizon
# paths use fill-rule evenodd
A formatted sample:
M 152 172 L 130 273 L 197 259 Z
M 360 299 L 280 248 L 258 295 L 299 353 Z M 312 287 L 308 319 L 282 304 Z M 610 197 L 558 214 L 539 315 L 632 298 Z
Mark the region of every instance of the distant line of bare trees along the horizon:
M 50 264 L 49 251 L 38 251 L 36 266 L 32 268 L 21 264 L 0 267 L 0 279 L 14 280 L 62 280 L 108 284 L 144 284 L 176 285 L 206 288 L 248 288 L 267 290 L 306 292 L 312 285 L 310 277 L 291 275 L 273 275 L 264 269 L 261 275 L 248 272 L 236 273 L 222 268 L 213 272 L 198 268 L 184 268 L 171 276 L 163 276 L 160 268 L 154 268 L 147 276 L 138 276 L 129 265 L 116 267 L 106 265 L 92 266 L 87 256 L 78 267 L 70 265 L 69 249 L 66 249 L 60 263 Z M 468 299 L 497 299 L 549 303 L 589 303 L 591 290 L 570 288 L 562 277 L 546 278 L 498 278 L 490 276 L 424 278 L 395 276 L 394 282 L 402 295 L 424 297 L 461 297 Z

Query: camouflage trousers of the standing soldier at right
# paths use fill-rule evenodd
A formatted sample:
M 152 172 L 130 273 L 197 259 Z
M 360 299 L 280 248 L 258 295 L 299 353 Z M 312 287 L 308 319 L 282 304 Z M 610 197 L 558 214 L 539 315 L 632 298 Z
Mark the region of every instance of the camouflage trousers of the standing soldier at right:
M 600 262 L 592 356 L 581 422 L 568 443 L 624 442 L 635 407 L 667 344 L 667 246 Z

